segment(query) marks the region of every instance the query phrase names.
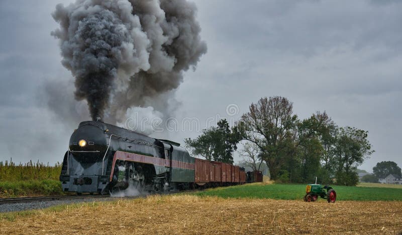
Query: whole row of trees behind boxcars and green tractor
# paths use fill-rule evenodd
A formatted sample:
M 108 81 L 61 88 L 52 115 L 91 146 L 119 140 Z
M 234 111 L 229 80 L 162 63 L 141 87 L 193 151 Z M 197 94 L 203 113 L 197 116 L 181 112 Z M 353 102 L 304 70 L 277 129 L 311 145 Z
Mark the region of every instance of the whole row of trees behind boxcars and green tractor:
M 368 131 L 339 127 L 326 112 L 299 119 L 293 103 L 285 97 L 264 97 L 252 103 L 234 126 L 226 119 L 184 140 L 193 154 L 210 161 L 233 164 L 240 153 L 254 170 L 266 164 L 272 180 L 288 183 L 356 185 L 356 168 L 374 152 Z

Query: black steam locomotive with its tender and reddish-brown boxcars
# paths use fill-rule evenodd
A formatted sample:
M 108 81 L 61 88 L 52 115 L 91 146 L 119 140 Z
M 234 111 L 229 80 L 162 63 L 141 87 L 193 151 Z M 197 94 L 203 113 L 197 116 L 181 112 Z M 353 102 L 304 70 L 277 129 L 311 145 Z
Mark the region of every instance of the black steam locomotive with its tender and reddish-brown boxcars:
M 238 166 L 189 155 L 179 143 L 100 121 L 81 122 L 70 137 L 60 181 L 64 191 L 109 193 L 182 190 L 246 183 Z

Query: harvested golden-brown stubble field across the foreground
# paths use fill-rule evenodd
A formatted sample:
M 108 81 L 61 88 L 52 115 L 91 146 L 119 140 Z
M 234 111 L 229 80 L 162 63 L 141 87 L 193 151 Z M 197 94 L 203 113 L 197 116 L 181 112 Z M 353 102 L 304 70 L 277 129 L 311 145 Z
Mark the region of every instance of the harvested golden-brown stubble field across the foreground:
M 398 234 L 402 202 L 327 203 L 192 195 L 83 204 L 0 221 L 2 234 Z

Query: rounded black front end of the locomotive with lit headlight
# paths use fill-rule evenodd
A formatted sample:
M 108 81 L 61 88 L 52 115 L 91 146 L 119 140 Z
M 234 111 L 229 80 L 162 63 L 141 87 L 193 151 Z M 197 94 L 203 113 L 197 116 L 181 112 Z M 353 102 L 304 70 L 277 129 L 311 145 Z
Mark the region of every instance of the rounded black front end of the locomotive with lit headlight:
M 108 129 L 102 122 L 81 122 L 70 137 L 60 175 L 64 191 L 101 193 L 109 183 L 104 162 L 108 150 Z

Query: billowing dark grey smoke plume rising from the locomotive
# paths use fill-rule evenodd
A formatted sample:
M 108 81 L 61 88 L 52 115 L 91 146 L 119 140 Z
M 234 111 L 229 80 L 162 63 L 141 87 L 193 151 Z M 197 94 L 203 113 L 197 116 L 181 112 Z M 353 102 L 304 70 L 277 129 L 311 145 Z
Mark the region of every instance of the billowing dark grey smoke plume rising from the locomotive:
M 131 107 L 166 114 L 183 71 L 207 51 L 186 0 L 77 0 L 57 5 L 62 64 L 92 119 L 123 122 Z

